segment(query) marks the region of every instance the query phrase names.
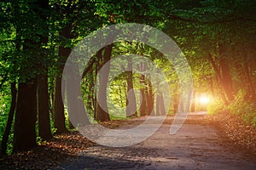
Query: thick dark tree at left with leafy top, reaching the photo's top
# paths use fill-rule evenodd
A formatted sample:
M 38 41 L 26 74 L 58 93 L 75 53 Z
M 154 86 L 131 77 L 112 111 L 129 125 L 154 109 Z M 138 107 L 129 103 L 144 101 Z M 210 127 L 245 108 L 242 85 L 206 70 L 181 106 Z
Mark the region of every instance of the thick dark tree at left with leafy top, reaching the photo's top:
M 30 24 L 19 22 L 19 28 L 16 28 L 18 30 L 17 35 L 20 34 L 20 37 L 25 37 L 25 40 L 21 50 L 24 59 L 20 60 L 19 65 L 20 79 L 15 111 L 14 152 L 29 150 L 37 145 L 35 126 L 37 122 L 38 67 L 34 68 L 32 65 L 38 65 L 40 61 L 40 50 L 38 53 L 38 49 L 41 49 L 40 38 L 44 34 L 44 29 L 40 28 L 42 28 L 44 19 L 39 13 L 44 11 L 44 3 L 27 2 L 16 10 L 22 11 L 25 16 L 24 19 Z

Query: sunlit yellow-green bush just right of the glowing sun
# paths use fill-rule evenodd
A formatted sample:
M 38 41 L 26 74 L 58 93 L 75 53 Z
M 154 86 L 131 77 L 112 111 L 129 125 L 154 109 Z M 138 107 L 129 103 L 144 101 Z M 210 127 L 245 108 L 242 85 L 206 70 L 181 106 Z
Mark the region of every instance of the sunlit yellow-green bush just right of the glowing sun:
M 225 105 L 221 99 L 213 99 L 212 102 L 207 105 L 207 113 L 214 115 L 226 111 Z

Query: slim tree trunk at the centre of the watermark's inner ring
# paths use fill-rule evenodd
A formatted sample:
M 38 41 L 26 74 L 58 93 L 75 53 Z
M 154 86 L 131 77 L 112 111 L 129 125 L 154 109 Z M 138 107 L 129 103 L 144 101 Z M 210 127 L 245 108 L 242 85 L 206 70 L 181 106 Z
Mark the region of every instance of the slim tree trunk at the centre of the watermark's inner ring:
M 137 116 L 137 102 L 133 90 L 133 81 L 132 81 L 132 60 L 131 58 L 127 59 L 128 70 L 127 71 L 127 97 L 126 97 L 126 117 Z

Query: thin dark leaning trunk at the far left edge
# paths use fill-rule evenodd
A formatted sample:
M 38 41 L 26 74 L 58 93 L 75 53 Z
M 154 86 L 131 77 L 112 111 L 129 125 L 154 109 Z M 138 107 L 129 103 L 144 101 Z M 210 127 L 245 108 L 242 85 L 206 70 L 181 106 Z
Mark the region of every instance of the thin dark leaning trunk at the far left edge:
M 2 142 L 1 142 L 0 157 L 6 155 L 9 133 L 10 133 L 10 130 L 12 127 L 12 122 L 13 122 L 13 119 L 15 116 L 16 97 L 17 97 L 17 90 L 16 90 L 15 85 L 16 85 L 15 82 L 11 82 L 12 99 L 11 99 L 11 105 L 10 105 L 10 109 L 9 109 L 9 116 L 8 116 L 7 124 L 6 124 L 5 130 L 4 130 L 3 138 L 2 138 Z

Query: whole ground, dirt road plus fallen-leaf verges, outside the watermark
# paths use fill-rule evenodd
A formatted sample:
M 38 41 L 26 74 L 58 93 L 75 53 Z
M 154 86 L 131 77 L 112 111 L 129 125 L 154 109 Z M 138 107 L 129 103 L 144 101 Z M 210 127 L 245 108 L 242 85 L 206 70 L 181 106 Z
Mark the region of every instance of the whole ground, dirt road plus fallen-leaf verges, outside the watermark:
M 131 127 L 145 117 L 105 123 Z M 6 156 L 0 169 L 256 169 L 256 129 L 236 116 L 189 114 L 183 127 L 169 135 L 173 116 L 139 144 L 110 148 L 77 132 L 56 135 L 36 149 Z

